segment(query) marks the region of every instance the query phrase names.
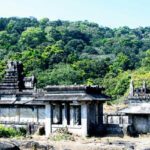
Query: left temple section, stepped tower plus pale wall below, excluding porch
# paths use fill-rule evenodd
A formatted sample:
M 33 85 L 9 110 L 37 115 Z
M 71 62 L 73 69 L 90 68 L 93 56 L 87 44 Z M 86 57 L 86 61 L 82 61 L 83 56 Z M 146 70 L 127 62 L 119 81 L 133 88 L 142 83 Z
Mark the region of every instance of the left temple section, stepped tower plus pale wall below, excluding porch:
M 7 63 L 6 75 L 0 84 L 0 124 L 25 127 L 32 124 L 35 130 L 44 125 L 45 106 L 35 100 L 36 79 L 24 77 L 22 71 L 20 62 Z

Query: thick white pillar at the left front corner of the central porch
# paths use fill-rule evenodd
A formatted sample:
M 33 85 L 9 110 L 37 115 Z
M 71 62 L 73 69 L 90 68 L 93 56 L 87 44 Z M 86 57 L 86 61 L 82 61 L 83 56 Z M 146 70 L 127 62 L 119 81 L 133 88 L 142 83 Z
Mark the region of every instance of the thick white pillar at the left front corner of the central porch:
M 52 133 L 52 107 L 51 104 L 46 103 L 45 105 L 45 133 L 46 137 Z

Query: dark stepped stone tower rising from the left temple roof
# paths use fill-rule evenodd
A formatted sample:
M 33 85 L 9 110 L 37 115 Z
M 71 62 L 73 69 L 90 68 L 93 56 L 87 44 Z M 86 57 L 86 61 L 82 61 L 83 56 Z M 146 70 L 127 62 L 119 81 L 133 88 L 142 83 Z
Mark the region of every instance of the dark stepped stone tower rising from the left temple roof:
M 21 93 L 24 91 L 33 92 L 36 85 L 36 79 L 23 76 L 23 65 L 21 62 L 8 61 L 6 75 L 0 83 L 0 92 L 2 93 Z

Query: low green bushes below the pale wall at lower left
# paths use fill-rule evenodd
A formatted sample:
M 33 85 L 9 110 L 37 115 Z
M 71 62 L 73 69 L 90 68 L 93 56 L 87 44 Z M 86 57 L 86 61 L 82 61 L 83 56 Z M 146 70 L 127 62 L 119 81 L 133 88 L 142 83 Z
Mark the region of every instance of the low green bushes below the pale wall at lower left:
M 26 135 L 26 129 L 21 127 L 18 130 L 13 129 L 11 127 L 4 127 L 3 125 L 0 125 L 0 137 L 15 137 L 15 136 L 25 136 Z

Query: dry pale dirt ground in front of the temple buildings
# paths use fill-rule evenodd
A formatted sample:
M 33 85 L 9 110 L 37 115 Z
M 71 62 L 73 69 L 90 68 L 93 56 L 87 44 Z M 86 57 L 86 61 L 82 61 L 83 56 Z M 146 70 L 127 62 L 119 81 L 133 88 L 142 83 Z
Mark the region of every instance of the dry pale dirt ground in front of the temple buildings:
M 13 140 L 21 139 L 0 139 L 0 141 L 11 142 Z M 44 136 L 33 136 L 31 140 L 38 142 L 41 145 L 51 145 L 55 150 L 148 150 L 150 149 L 150 135 L 142 135 L 138 138 L 125 136 L 121 137 L 91 137 L 81 138 L 75 137 L 75 141 L 61 140 L 53 141 Z M 33 150 L 34 148 L 22 148 L 22 150 Z M 38 148 L 37 148 L 38 150 Z

